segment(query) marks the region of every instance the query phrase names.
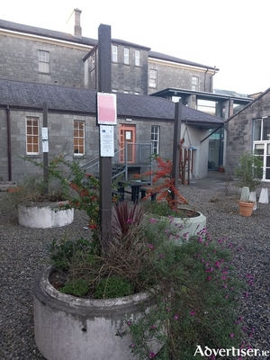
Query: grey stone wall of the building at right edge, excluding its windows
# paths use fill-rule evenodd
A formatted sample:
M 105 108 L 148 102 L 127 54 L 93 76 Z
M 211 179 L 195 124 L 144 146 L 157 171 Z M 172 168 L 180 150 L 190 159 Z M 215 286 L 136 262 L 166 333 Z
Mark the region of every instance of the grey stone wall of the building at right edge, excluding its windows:
M 233 175 L 238 159 L 253 148 L 253 121 L 270 116 L 270 92 L 247 105 L 241 112 L 225 122 L 227 130 L 226 173 Z

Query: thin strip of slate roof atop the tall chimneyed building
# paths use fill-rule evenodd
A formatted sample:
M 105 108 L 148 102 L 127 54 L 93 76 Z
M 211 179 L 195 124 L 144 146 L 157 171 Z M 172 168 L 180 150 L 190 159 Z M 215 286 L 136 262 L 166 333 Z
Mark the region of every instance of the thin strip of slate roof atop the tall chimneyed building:
M 97 40 L 94 40 L 91 38 L 86 38 L 84 36 L 79 38 L 79 37 L 73 36 L 71 34 L 68 34 L 66 32 L 42 29 L 42 28 L 38 28 L 35 26 L 24 25 L 22 23 L 8 22 L 6 20 L 1 20 L 1 19 L 0 19 L 0 29 L 10 30 L 10 31 L 19 31 L 19 32 L 27 33 L 27 34 L 38 35 L 38 36 L 45 36 L 45 37 L 51 38 L 51 39 L 76 42 L 79 44 L 93 46 L 93 47 L 98 42 Z M 114 42 L 116 44 L 121 44 L 123 46 L 130 46 L 133 48 L 145 49 L 145 50 L 149 51 L 148 56 L 150 58 L 158 58 L 158 59 L 162 59 L 162 60 L 166 60 L 166 61 L 172 61 L 172 62 L 175 62 L 178 64 L 184 64 L 184 65 L 189 65 L 189 66 L 194 66 L 194 67 L 204 67 L 204 68 L 215 69 L 216 71 L 219 71 L 219 69 L 215 68 L 215 67 L 209 67 L 207 65 L 202 65 L 202 64 L 199 64 L 199 63 L 196 63 L 193 61 L 184 60 L 183 58 L 175 58 L 173 56 L 169 56 L 169 55 L 163 54 L 161 52 L 157 52 L 157 51 L 150 51 L 150 48 L 139 45 L 139 44 L 134 44 L 133 42 L 119 40 L 119 39 L 112 39 L 112 42 Z

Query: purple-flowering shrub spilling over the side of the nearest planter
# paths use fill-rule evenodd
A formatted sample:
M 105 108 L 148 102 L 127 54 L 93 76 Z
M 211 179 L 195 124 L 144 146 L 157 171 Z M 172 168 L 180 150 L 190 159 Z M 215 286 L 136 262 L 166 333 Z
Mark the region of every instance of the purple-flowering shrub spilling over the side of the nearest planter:
M 194 356 L 197 346 L 243 347 L 240 302 L 252 275 L 246 276 L 247 282 L 239 278 L 238 249 L 225 238 L 211 240 L 206 229 L 181 246 L 170 237 L 163 246 L 151 245 L 152 251 L 158 247 L 152 263 L 157 303 L 139 320 L 127 319 L 127 329 L 118 330 L 118 336 L 131 335 L 130 351 L 139 359 L 188 360 L 202 357 Z M 157 354 L 155 341 L 163 346 Z

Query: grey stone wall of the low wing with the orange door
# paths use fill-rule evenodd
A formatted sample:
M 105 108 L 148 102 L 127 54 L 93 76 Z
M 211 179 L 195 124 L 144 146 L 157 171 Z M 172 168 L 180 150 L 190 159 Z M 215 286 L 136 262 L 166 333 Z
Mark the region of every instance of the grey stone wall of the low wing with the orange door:
M 40 128 L 40 155 L 31 157 L 42 161 L 41 147 L 41 127 L 42 112 L 16 111 L 11 110 L 11 152 L 12 152 L 12 172 L 13 181 L 19 181 L 24 175 L 33 175 L 37 172 L 36 166 L 23 161 L 19 156 L 26 155 L 26 117 L 33 116 L 39 118 Z M 82 164 L 99 157 L 99 128 L 95 124 L 95 118 L 76 114 L 51 113 L 48 114 L 49 128 L 49 161 L 60 153 L 67 154 L 67 159 L 73 160 L 73 139 L 74 121 L 85 121 L 85 157 Z M 115 150 L 119 148 L 119 130 L 121 123 L 128 123 L 125 120 L 118 120 L 118 125 L 114 130 Z M 129 122 L 130 123 L 130 122 Z M 150 143 L 151 126 L 160 127 L 160 155 L 172 158 L 173 130 L 174 124 L 171 121 L 132 121 L 136 125 L 136 142 Z M 6 111 L 0 109 L 0 176 L 4 181 L 8 179 L 8 157 L 7 157 L 7 126 Z

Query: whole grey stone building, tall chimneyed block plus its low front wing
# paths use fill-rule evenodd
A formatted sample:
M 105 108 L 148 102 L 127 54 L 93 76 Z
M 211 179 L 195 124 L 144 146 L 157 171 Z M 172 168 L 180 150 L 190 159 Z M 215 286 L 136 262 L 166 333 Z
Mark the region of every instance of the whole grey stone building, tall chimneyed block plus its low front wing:
M 72 34 L 0 20 L 0 146 L 1 151 L 3 150 L 1 173 L 4 174 L 0 176 L 4 179 L 12 177 L 9 174 L 11 169 L 15 177 L 22 173 L 17 157 L 13 158 L 11 165 L 14 150 L 23 156 L 40 156 L 40 142 L 38 151 L 32 151 L 33 154 L 28 151 L 28 147 L 33 144 L 28 143 L 27 131 L 30 129 L 27 127 L 27 121 L 31 124 L 30 131 L 38 130 L 40 136 L 43 102 L 49 103 L 51 155 L 60 151 L 65 143 L 72 157 L 78 157 L 74 152 L 73 134 L 75 130 L 80 130 L 75 126 L 82 126 L 85 131 L 84 139 L 76 139 L 76 142 L 84 143 L 82 153 L 87 160 L 98 156 L 95 107 L 92 103 L 89 109 L 85 101 L 85 97 L 92 96 L 94 102 L 98 79 L 98 45 L 97 40 L 83 36 L 80 16 L 81 11 L 75 9 L 71 16 Z M 128 103 L 131 102 L 130 108 L 124 107 L 125 110 L 122 112 L 122 132 L 117 130 L 115 150 L 119 149 L 119 144 L 122 144 L 120 139 L 127 133 L 134 142 L 152 143 L 155 152 L 171 157 L 171 150 L 168 148 L 172 146 L 174 111 L 171 109 L 175 109 L 175 103 L 172 102 L 174 99 L 169 97 L 166 101 L 150 100 L 144 96 L 160 96 L 164 89 L 175 89 L 177 101 L 180 100 L 184 105 L 182 134 L 188 135 L 185 146 L 192 151 L 192 175 L 207 175 L 210 159 L 211 163 L 217 166 L 223 162 L 223 121 L 220 118 L 225 116 L 221 110 L 203 115 L 202 112 L 190 112 L 187 107 L 200 109 L 200 94 L 205 94 L 211 99 L 213 77 L 218 71 L 216 67 L 157 53 L 148 47 L 126 40 L 112 39 L 112 92 L 117 94 L 120 104 L 123 94 L 129 94 L 130 97 L 126 96 L 124 99 Z M 8 91 L 12 91 L 13 94 L 7 94 Z M 135 95 L 139 97 L 136 98 Z M 61 101 L 55 103 L 54 96 Z M 73 96 L 77 100 L 76 105 L 72 100 Z M 217 103 L 215 99 L 216 97 L 213 103 Z M 143 113 L 139 101 L 145 103 Z M 228 109 L 233 107 L 231 96 L 225 95 L 224 99 L 221 96 L 220 101 L 220 106 L 222 105 L 222 109 L 224 107 L 228 114 Z M 148 116 L 148 107 L 152 107 L 155 102 L 158 103 L 157 109 Z M 71 107 L 70 103 L 73 104 Z M 136 106 L 132 106 L 133 104 Z M 161 108 L 161 104 L 164 108 Z M 209 108 L 208 106 L 206 112 L 209 112 Z M 186 113 L 188 115 L 185 116 Z M 121 112 L 118 115 L 121 118 Z M 9 118 L 10 122 L 7 121 Z M 189 123 L 191 118 L 193 121 Z M 7 125 L 8 123 L 10 125 Z M 33 129 L 37 123 L 37 129 Z M 214 134 L 209 139 L 210 133 L 217 129 L 220 131 L 220 137 L 211 139 Z M 8 138 L 6 131 L 9 130 L 11 135 Z M 214 146 L 209 151 L 210 143 Z M 80 154 L 81 150 L 77 150 Z M 18 170 L 14 165 L 19 166 Z

